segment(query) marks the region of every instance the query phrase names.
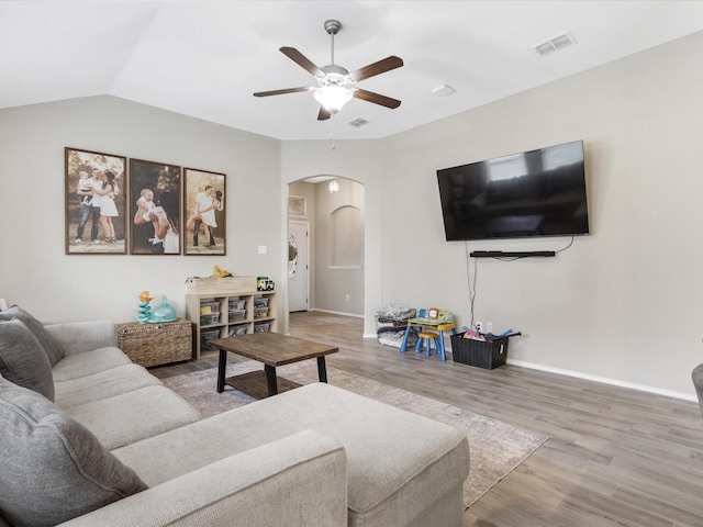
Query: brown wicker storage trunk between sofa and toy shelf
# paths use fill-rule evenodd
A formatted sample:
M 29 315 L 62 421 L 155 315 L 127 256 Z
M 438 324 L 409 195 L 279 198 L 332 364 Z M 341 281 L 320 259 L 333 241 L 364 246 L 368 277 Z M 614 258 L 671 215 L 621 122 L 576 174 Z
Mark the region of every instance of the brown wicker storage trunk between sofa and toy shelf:
M 192 338 L 192 323 L 182 318 L 159 324 L 118 324 L 118 347 L 144 367 L 190 360 Z

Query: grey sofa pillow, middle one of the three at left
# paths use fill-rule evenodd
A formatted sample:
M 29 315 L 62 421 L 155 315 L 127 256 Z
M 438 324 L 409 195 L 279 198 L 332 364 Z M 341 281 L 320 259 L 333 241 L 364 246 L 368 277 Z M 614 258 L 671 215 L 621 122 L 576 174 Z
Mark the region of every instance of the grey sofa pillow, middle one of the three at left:
M 54 401 L 52 365 L 22 321 L 0 321 L 0 374 Z

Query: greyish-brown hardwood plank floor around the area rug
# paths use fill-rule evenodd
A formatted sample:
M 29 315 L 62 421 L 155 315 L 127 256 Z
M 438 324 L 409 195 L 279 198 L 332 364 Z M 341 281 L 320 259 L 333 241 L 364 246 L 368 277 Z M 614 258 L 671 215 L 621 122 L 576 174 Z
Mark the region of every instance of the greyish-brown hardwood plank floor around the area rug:
M 355 317 L 293 313 L 290 333 L 338 346 L 327 357 L 334 368 L 550 437 L 465 513 L 465 527 L 703 526 L 695 403 L 511 365 L 482 370 L 400 354 L 362 339 Z M 152 371 L 214 367 L 207 357 Z

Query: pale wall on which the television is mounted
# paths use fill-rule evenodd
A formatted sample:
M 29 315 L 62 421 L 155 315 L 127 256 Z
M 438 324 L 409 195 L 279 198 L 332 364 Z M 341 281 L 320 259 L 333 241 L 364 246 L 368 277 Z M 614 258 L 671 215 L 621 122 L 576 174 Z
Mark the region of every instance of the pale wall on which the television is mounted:
M 701 52 L 703 33 L 372 150 L 337 142 L 334 166 L 367 189 L 366 333 L 389 302 L 444 307 L 466 324 L 467 251 L 570 240 L 445 242 L 437 169 L 583 139 L 592 235 L 556 258 L 480 260 L 476 318 L 523 332 L 513 362 L 693 399 L 691 369 L 703 361 Z M 283 178 L 322 171 L 332 158 L 323 149 L 284 145 Z

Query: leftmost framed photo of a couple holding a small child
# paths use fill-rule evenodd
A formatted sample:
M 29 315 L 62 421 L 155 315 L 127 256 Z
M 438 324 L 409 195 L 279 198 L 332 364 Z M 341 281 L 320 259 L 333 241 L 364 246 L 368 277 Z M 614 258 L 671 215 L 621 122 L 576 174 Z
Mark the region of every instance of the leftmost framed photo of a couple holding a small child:
M 66 254 L 126 254 L 124 156 L 65 148 Z

